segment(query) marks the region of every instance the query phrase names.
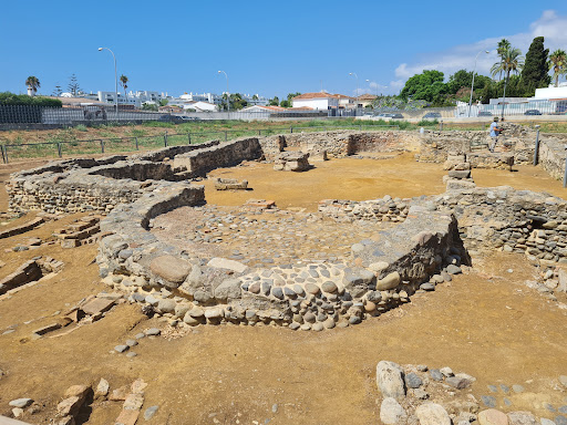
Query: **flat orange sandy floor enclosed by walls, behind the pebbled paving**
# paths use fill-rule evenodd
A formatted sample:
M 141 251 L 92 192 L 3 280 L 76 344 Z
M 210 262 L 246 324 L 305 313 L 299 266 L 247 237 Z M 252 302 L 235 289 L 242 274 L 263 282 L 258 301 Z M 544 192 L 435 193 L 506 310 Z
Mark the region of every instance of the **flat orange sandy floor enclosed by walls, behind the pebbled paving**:
M 204 182 L 207 203 L 243 205 L 249 198 L 272 199 L 279 208 L 299 207 L 316 211 L 321 199 L 367 200 L 390 195 L 409 198 L 445 191 L 440 164 L 413 160 L 413 154 L 389 159 L 334 159 L 313 162 L 307 173 L 275 172 L 272 164 L 245 163 L 239 167 L 219 168 Z M 282 174 L 284 173 L 284 174 Z M 247 179 L 252 190 L 215 190 L 215 177 Z M 539 167 L 514 166 L 504 169 L 474 169 L 478 186 L 512 186 L 517 189 L 545 190 L 555 196 L 567 193 L 560 182 L 549 178 Z

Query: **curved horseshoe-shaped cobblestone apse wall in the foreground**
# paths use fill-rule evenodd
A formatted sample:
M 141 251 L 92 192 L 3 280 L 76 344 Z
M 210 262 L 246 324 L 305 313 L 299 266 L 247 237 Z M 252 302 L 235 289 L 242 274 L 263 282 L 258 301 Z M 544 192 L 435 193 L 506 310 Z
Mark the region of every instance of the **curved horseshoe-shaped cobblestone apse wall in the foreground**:
M 235 260 L 195 257 L 147 231 L 158 214 L 203 201 L 203 187 L 164 183 L 116 207 L 101 221 L 101 230 L 113 234 L 102 239 L 96 258 L 104 281 L 146 312 L 172 314 L 190 325 L 262 322 L 321 331 L 408 302 L 415 291 L 434 289 L 430 279 L 447 265 L 466 263 L 451 214 L 391 199 L 378 204 L 390 211 L 393 203 L 392 210 L 411 219 L 382 231 L 377 243 L 353 246 L 352 263 L 250 269 Z

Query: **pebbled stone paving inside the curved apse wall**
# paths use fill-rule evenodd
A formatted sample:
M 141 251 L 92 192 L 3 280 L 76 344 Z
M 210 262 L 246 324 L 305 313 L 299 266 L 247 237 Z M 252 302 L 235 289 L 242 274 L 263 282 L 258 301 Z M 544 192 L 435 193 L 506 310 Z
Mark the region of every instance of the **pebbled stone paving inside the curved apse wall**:
M 225 257 L 249 267 L 342 262 L 360 240 L 378 240 L 393 224 L 337 222 L 318 212 L 183 207 L 155 218 L 152 232 L 197 257 Z

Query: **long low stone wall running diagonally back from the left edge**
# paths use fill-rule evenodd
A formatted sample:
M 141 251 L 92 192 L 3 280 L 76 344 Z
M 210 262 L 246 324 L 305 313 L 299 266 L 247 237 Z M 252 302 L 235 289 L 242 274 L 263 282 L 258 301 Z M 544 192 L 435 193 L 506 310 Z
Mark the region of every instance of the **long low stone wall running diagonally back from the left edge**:
M 9 209 L 14 212 L 110 212 L 154 190 L 155 182 L 179 182 L 219 166 L 261 156 L 257 138 L 225 144 L 166 147 L 156 152 L 100 159 L 65 159 L 14 173 L 6 184 Z M 187 172 L 175 162 L 181 157 Z M 169 158 L 169 160 L 166 160 Z M 174 158 L 174 159 L 172 159 Z

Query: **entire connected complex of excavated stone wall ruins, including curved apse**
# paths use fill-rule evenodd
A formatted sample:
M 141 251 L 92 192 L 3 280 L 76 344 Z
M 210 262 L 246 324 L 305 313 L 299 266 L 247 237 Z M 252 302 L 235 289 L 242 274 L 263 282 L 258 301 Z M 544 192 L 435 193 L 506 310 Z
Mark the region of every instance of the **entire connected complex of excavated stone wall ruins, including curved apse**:
M 14 173 L 7 184 L 9 207 L 14 212 L 92 212 L 59 232 L 62 243 L 97 241 L 96 262 L 109 287 L 147 314 L 189 325 L 261 322 L 306 331 L 353 325 L 409 302 L 416 292 L 433 291 L 462 267 L 474 266 L 471 251 L 485 249 L 525 253 L 540 269 L 538 290 L 553 298 L 554 291 L 566 290 L 557 266 L 567 262 L 567 203 L 474 183 L 476 168 L 508 169 L 533 160 L 534 134 L 506 125 L 511 151 L 497 154 L 475 149 L 485 132 L 400 131 L 246 137 L 133 156 L 65 159 Z M 417 152 L 416 160 L 444 166 L 447 190 L 411 199 L 317 199 L 320 218 L 367 222 L 380 230 L 378 240 L 361 238 L 347 257 L 326 260 L 252 267 L 243 256 L 210 257 L 153 231 L 156 219 L 177 208 L 205 214 L 205 189 L 198 183 L 215 168 L 261 160 L 277 170 L 305 172 L 318 160 L 361 152 Z M 560 141 L 543 138 L 540 165 L 556 178 L 563 173 L 561 155 Z M 218 179 L 215 187 L 246 189 L 248 182 Z M 274 201 L 256 204 L 284 214 Z M 223 219 L 229 225 L 234 217 Z

